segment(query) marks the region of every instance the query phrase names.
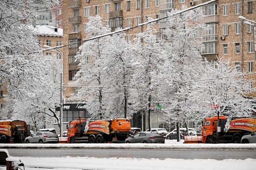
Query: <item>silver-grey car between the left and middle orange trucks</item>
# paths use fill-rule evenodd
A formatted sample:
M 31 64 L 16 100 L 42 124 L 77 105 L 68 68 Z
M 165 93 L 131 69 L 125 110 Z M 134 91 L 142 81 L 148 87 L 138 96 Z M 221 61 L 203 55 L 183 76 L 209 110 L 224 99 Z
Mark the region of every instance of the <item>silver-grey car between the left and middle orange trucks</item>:
M 59 137 L 53 132 L 34 132 L 25 138 L 25 143 L 59 143 Z

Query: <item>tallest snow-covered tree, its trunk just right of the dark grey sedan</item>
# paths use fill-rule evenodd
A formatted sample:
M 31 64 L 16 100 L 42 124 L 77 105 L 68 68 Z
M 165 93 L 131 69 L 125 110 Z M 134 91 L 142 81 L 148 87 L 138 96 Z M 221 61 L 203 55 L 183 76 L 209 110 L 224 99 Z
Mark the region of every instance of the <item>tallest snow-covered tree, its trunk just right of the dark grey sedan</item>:
M 182 7 L 184 9 L 185 6 Z M 201 43 L 195 38 L 197 30 L 205 28 L 201 20 L 204 15 L 201 8 L 193 11 L 171 15 L 177 12 L 173 9 L 168 13 L 168 28 L 163 30 L 167 38 L 164 65 L 161 77 L 162 82 L 182 82 L 190 79 L 190 72 L 202 65 Z M 163 88 L 163 97 L 166 103 L 163 105 L 163 113 L 167 121 L 172 120 L 177 128 L 177 140 L 180 138 L 179 121 L 183 121 L 188 113 L 188 97 L 180 95 L 181 88 L 189 86 L 188 83 L 168 84 Z

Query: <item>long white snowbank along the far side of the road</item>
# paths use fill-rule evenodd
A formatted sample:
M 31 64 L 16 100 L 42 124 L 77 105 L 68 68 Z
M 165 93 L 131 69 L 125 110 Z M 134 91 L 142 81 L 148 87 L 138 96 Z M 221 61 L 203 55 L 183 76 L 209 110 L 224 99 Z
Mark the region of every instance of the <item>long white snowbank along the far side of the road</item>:
M 0 144 L 0 148 L 90 148 L 90 149 L 170 149 L 170 150 L 255 150 L 256 144 L 183 144 L 165 140 L 165 144 Z

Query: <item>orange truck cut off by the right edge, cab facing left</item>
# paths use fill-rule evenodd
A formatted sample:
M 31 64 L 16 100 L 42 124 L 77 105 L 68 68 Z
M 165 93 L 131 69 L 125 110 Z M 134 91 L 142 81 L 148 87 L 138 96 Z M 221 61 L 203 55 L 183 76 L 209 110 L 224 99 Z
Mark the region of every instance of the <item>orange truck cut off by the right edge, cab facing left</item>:
M 205 119 L 202 125 L 202 143 L 240 143 L 243 135 L 256 131 L 256 117 L 219 116 L 219 126 L 217 122 L 218 116 Z

